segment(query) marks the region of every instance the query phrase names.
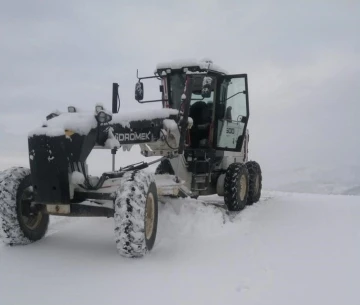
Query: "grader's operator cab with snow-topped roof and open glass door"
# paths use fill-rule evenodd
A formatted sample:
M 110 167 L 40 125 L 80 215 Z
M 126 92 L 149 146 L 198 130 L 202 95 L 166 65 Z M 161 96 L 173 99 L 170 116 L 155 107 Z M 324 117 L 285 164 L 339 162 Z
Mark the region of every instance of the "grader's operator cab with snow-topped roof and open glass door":
M 211 61 L 159 64 L 155 76 L 161 80 L 163 108 L 183 111 L 186 80 L 193 78 L 188 133 L 190 149 L 241 151 L 249 118 L 247 75 L 227 75 Z M 143 85 L 137 83 L 139 92 Z M 136 90 L 135 90 L 136 92 Z M 136 95 L 140 102 L 143 95 Z

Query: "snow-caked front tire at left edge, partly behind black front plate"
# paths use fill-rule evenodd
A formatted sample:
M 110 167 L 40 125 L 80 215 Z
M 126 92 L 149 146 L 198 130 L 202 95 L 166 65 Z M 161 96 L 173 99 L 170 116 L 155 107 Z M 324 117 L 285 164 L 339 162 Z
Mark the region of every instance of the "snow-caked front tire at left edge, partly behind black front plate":
M 0 172 L 0 239 L 8 245 L 26 245 L 42 239 L 49 215 L 30 209 L 30 170 L 13 167 Z

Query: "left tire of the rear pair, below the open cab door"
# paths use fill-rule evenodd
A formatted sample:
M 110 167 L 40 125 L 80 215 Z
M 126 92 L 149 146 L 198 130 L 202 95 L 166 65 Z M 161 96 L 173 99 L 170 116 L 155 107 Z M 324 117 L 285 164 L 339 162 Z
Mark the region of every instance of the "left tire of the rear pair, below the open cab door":
M 249 190 L 249 173 L 245 164 L 232 163 L 225 173 L 224 201 L 229 211 L 246 207 Z

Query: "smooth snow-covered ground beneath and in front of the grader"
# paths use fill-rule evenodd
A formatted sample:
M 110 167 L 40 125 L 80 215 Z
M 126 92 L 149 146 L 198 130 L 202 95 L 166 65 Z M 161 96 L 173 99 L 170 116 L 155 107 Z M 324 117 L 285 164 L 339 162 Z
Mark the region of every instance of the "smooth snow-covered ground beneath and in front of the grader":
M 139 260 L 117 255 L 112 219 L 56 218 L 40 242 L 0 246 L 0 304 L 360 304 L 360 197 L 262 198 L 233 216 L 167 200 Z

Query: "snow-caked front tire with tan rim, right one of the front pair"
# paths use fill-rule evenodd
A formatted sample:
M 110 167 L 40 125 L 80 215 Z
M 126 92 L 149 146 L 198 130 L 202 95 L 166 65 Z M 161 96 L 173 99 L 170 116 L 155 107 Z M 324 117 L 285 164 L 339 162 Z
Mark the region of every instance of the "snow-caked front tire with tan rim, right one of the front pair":
M 158 223 L 158 197 L 152 174 L 125 173 L 115 198 L 115 240 L 124 257 L 142 257 L 154 244 Z

